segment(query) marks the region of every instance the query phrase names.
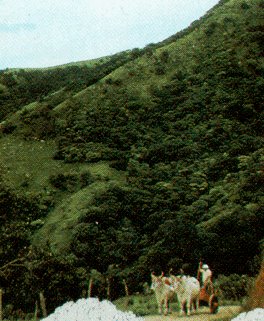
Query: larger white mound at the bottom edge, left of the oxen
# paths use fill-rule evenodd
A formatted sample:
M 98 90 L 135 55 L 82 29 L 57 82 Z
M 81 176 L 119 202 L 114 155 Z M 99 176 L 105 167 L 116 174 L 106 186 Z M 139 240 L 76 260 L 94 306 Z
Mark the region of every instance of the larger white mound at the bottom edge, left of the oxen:
M 42 321 L 143 321 L 132 312 L 117 310 L 110 301 L 97 298 L 66 302 Z

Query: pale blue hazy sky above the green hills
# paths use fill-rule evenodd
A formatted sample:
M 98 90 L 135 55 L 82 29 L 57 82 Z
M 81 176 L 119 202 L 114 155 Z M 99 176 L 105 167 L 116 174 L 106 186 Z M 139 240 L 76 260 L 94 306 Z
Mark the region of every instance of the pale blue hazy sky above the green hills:
M 42 68 L 143 48 L 219 0 L 0 0 L 0 70 Z

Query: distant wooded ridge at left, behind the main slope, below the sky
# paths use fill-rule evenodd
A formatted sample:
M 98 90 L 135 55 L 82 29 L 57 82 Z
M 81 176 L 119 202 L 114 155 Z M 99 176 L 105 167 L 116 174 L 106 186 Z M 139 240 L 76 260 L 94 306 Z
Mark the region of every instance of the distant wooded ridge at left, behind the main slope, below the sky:
M 112 55 L 94 65 L 72 65 L 49 69 L 18 69 L 0 71 L 0 120 L 36 100 L 53 107 L 67 98 L 105 77 L 124 63 L 135 59 L 130 52 Z M 61 90 L 59 92 L 58 90 Z M 51 94 L 51 95 L 49 95 Z

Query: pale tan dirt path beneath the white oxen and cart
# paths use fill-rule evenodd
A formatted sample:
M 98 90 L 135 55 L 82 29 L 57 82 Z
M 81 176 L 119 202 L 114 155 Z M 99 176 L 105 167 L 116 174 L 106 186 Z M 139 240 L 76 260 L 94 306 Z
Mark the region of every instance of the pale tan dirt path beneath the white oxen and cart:
M 239 306 L 223 306 L 219 307 L 219 311 L 217 314 L 210 314 L 209 308 L 202 307 L 197 313 L 187 317 L 182 316 L 179 317 L 178 312 L 173 312 L 168 316 L 159 316 L 152 315 L 145 317 L 145 321 L 214 321 L 224 318 L 232 318 L 240 311 Z

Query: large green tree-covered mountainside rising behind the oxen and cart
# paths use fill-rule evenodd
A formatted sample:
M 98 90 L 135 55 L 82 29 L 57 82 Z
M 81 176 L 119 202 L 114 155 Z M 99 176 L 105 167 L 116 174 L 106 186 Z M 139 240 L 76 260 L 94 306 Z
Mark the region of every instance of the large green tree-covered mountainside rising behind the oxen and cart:
M 220 1 L 181 36 L 122 53 L 108 69 L 102 62 L 90 82 L 78 80 L 90 77 L 82 69 L 62 69 L 63 81 L 53 73 L 41 95 L 34 90 L 47 71 L 34 82 L 27 71 L 3 72 L 0 144 L 10 152 L 32 144 L 24 162 L 35 174 L 17 181 L 18 155 L 14 171 L 1 169 L 2 264 L 3 242 L 15 244 L 14 259 L 35 262 L 27 286 L 37 291 L 50 260 L 46 290 L 58 300 L 68 289 L 77 296 L 95 270 L 125 278 L 131 291 L 151 270 L 189 263 L 194 272 L 201 257 L 215 275 L 254 274 L 264 238 L 263 18 L 260 0 Z M 33 146 L 50 164 L 37 187 Z M 24 224 L 20 234 L 13 224 Z M 47 243 L 34 260 L 31 243 Z

